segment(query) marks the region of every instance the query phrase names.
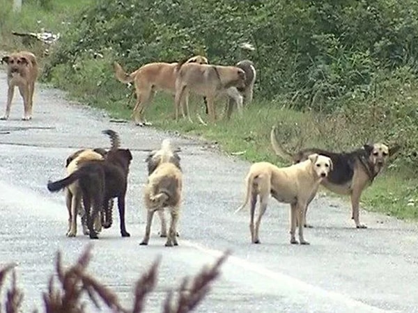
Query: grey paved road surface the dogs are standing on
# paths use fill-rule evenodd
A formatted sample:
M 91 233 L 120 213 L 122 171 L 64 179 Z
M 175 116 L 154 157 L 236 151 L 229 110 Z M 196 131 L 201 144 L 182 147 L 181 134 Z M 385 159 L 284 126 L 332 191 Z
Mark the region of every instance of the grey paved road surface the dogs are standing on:
M 39 86 L 38 86 L 39 87 Z M 6 77 L 0 72 L 0 103 Z M 16 94 L 17 96 L 17 94 Z M 318 198 L 309 211 L 316 227 L 305 232 L 311 246 L 288 243 L 288 207 L 272 202 L 261 225 L 261 245 L 249 243 L 248 211 L 240 204 L 248 163 L 217 154 L 201 141 L 173 136 L 182 148 L 185 200 L 180 246 L 165 248 L 154 223 L 149 246 L 139 246 L 145 211 L 141 188 L 146 150 L 169 135 L 151 128 L 114 124 L 101 111 L 65 100 L 59 90 L 36 90 L 34 118 L 22 122 L 16 97 L 11 118 L 0 121 L 0 265 L 17 262 L 24 311 L 42 305 L 56 250 L 65 264 L 91 243 L 81 234 L 65 237 L 63 193 L 47 191 L 48 179 L 63 177 L 63 162 L 79 147 L 107 147 L 100 131 L 111 127 L 133 152 L 127 192 L 127 230 L 104 230 L 93 243 L 89 270 L 129 304 L 134 281 L 162 255 L 155 292 L 146 312 L 160 312 L 162 298 L 184 275 L 212 263 L 222 251 L 233 255 L 197 312 L 418 312 L 417 227 L 362 211 L 369 229 L 356 230 L 346 202 Z M 172 135 L 171 135 L 172 136 Z M 155 219 L 157 222 L 157 219 Z

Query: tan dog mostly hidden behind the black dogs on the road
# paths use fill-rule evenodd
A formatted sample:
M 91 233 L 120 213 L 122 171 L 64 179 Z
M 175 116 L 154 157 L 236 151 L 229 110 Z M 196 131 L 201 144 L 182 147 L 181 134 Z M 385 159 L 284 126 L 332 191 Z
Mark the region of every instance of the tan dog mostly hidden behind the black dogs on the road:
M 79 168 L 79 164 L 85 161 L 102 160 L 102 154 L 94 152 L 91 149 L 86 149 L 79 153 L 75 159 L 72 159 L 67 166 L 67 175 L 71 175 Z M 65 188 L 65 204 L 68 209 L 68 232 L 67 236 L 77 236 L 77 213 L 84 215 L 84 209 L 82 208 L 82 191 L 79 187 L 78 181 L 73 182 Z M 80 211 L 79 211 L 80 210 Z M 83 234 L 88 234 L 88 227 L 86 223 L 82 223 Z M 97 232 L 102 230 L 101 216 L 98 214 L 95 219 L 94 228 Z

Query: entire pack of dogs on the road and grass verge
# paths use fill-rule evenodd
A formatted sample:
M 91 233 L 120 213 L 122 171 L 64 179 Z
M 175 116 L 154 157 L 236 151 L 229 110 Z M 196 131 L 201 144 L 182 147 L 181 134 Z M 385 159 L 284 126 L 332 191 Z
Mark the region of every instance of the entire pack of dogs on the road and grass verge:
M 33 92 L 38 77 L 36 56 L 29 51 L 17 51 L 3 56 L 1 63 L 6 63 L 8 81 L 6 113 L 1 119 L 9 118 L 17 86 L 24 102 L 22 120 L 31 120 Z M 176 120 L 181 113 L 183 118 L 192 122 L 189 95 L 193 93 L 202 97 L 208 118 L 215 122 L 215 100 L 226 98 L 225 118 L 231 118 L 235 106 L 238 113 L 242 114 L 253 99 L 256 81 L 256 68 L 249 60 L 242 60 L 235 65 L 212 65 L 205 56 L 193 56 L 176 63 L 148 63 L 130 74 L 115 61 L 114 74 L 122 83 L 134 83 L 137 102 L 132 118 L 139 126 L 151 124 L 146 121 L 145 109 L 159 90 L 173 95 Z M 198 118 L 203 122 L 199 114 Z M 132 153 L 129 149 L 121 148 L 121 139 L 116 131 L 107 129 L 102 133 L 110 138 L 108 150 L 90 147 L 73 152 L 65 159 L 66 176 L 47 182 L 50 192 L 65 191 L 68 210 L 66 236 L 77 236 L 79 216 L 83 234 L 98 239 L 102 229 L 108 229 L 113 223 L 115 198 L 121 236 L 130 236 L 125 225 L 125 203 Z M 312 147 L 291 153 L 277 140 L 276 133 L 277 127 L 274 126 L 270 132 L 272 150 L 277 157 L 291 165 L 279 168 L 269 162 L 253 163 L 245 177 L 245 202 L 235 210 L 236 214 L 249 204 L 251 243 L 261 243 L 261 218 L 271 197 L 277 202 L 290 204 L 290 243 L 309 245 L 304 239 L 304 228 L 313 226 L 307 223 L 307 210 L 320 186 L 332 193 L 349 195 L 355 227 L 366 228 L 359 220 L 362 192 L 382 172 L 389 157 L 401 147 L 371 143 L 351 152 L 332 152 Z M 157 212 L 161 225 L 159 234 L 167 237 L 165 246 L 178 246 L 177 227 L 183 200 L 183 169 L 178 150 L 173 148 L 169 139 L 164 139 L 157 150 L 148 154 L 145 162 L 147 177 L 143 200 L 146 229 L 140 244 L 148 245 L 153 216 Z M 257 202 L 258 214 L 255 216 Z M 168 229 L 167 211 L 170 216 Z

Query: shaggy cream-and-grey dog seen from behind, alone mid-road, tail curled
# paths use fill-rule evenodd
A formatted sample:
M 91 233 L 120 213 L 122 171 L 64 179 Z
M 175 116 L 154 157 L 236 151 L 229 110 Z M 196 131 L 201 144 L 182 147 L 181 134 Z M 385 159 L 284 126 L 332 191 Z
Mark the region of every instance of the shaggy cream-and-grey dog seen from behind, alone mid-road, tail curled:
M 148 245 L 151 224 L 155 211 L 159 212 L 162 224 L 162 234 L 165 230 L 164 209 L 169 208 L 171 223 L 165 246 L 178 246 L 177 222 L 180 215 L 181 193 L 183 189 L 183 174 L 180 168 L 180 158 L 173 152 L 169 139 L 162 141 L 158 150 L 148 162 L 148 182 L 144 188 L 144 202 L 147 209 L 146 230 L 141 245 Z

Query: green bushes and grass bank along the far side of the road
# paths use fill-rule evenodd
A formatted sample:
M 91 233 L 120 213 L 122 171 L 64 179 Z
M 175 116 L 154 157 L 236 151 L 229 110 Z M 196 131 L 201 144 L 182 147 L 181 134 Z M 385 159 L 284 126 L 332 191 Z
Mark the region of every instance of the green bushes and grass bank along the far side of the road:
M 255 100 L 243 117 L 204 127 L 174 123 L 173 100 L 159 95 L 146 116 L 157 127 L 202 135 L 249 161 L 272 155 L 268 134 L 280 124 L 288 149 L 318 145 L 351 150 L 367 142 L 400 143 L 387 175 L 366 204 L 417 216 L 416 103 L 418 2 L 412 0 L 98 0 L 72 11 L 72 23 L 49 56 L 44 79 L 89 104 L 129 118 L 132 88 L 116 81 L 111 63 L 127 71 L 194 54 L 258 70 Z M 68 13 L 68 17 L 70 13 Z M 256 49 L 240 48 L 249 43 Z M 194 99 L 201 110 L 201 99 Z M 218 111 L 222 110 L 218 103 Z M 407 213 L 405 213 L 407 212 Z

